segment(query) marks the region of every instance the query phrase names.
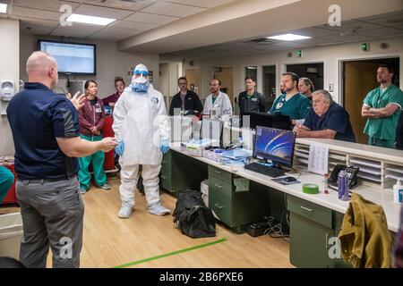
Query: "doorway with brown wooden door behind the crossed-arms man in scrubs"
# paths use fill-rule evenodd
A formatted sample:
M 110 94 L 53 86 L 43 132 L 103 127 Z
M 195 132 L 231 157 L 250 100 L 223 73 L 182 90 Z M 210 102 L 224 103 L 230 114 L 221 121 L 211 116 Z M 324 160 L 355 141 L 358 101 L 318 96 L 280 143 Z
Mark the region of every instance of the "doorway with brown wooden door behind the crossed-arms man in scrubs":
M 379 86 L 376 71 L 382 63 L 388 63 L 394 68 L 393 83 L 399 87 L 399 57 L 345 61 L 341 65 L 342 104 L 350 116 L 357 143 L 368 143 L 368 136 L 364 134 L 366 119 L 361 116 L 361 108 L 368 92 Z

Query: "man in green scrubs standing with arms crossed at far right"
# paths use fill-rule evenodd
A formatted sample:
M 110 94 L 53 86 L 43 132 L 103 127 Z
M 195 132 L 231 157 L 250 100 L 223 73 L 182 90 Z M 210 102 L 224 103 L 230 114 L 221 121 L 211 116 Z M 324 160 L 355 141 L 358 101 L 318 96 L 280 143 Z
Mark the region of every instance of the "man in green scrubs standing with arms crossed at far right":
M 364 118 L 368 118 L 364 133 L 369 136 L 369 145 L 395 147 L 396 128 L 403 106 L 403 92 L 392 84 L 393 72 L 389 65 L 380 65 L 377 71 L 380 86 L 371 90 L 364 98 L 361 114 Z

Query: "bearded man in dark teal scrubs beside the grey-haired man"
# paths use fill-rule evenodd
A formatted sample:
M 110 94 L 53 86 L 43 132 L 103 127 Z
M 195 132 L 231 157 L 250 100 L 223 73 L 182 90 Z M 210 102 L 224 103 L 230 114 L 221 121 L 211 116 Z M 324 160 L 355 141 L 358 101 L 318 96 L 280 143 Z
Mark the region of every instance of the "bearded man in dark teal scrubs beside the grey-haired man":
M 308 98 L 298 92 L 299 77 L 294 72 L 285 72 L 281 77 L 281 86 L 285 94 L 274 100 L 269 114 L 288 115 L 292 123 L 303 123 L 312 104 Z

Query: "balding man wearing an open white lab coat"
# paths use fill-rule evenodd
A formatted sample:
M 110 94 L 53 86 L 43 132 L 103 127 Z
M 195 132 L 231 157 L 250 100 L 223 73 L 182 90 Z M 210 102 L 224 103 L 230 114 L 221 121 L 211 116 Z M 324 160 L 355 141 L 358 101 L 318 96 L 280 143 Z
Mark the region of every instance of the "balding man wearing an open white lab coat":
M 232 115 L 231 101 L 227 94 L 219 91 L 219 88 L 221 88 L 221 81 L 210 80 L 211 94 L 206 98 L 203 114 L 210 114 L 210 110 L 215 110 L 217 116 L 229 117 Z

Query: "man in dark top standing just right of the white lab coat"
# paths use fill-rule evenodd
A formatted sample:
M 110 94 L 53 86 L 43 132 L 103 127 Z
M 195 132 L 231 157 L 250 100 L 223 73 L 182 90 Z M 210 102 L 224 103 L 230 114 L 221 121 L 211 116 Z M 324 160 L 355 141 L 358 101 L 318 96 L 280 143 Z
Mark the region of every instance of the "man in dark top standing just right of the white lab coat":
M 264 97 L 261 93 L 256 91 L 256 80 L 252 77 L 244 79 L 246 90 L 241 92 L 238 96 L 239 113 L 264 113 Z

